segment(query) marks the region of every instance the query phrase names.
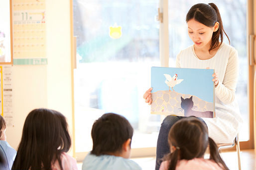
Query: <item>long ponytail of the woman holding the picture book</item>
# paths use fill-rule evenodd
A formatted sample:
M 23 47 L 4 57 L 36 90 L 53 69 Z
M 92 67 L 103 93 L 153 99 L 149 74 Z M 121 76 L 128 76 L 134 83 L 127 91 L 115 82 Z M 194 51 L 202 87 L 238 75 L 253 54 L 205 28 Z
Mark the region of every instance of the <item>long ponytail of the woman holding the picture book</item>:
M 223 24 L 222 24 L 222 19 L 221 19 L 221 14 L 220 14 L 220 11 L 219 11 L 218 7 L 214 3 L 208 3 L 208 4 L 210 6 L 212 6 L 212 8 L 214 8 L 214 10 L 216 11 L 216 14 L 217 14 L 217 17 L 218 17 L 217 22 L 219 22 L 219 29 L 216 32 L 214 32 L 213 36 L 212 36 L 212 43 L 211 43 L 211 47 L 209 49 L 209 52 L 210 52 L 211 50 L 213 50 L 213 49 L 215 49 L 216 47 L 219 46 L 219 38 L 220 37 L 221 37 L 221 44 L 222 44 L 222 42 L 223 42 L 223 32 L 227 36 L 227 38 L 229 40 L 229 44 L 230 44 L 230 39 L 229 39 L 228 35 L 226 34 L 226 32 L 224 31 Z

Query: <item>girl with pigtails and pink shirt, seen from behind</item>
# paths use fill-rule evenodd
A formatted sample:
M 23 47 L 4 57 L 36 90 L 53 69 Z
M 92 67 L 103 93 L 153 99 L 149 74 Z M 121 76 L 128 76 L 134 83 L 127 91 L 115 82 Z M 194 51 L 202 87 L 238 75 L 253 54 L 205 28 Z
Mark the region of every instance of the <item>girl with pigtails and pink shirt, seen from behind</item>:
M 170 129 L 168 143 L 171 153 L 159 170 L 228 170 L 217 145 L 208 137 L 206 125 L 195 117 L 177 121 Z M 210 159 L 204 159 L 208 145 Z

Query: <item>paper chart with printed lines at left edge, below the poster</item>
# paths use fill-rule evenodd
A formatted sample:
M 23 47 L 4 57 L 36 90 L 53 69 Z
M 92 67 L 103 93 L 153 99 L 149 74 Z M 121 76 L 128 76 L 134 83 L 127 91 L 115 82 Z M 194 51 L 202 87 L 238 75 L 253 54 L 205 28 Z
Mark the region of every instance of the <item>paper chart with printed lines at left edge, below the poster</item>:
M 12 67 L 0 65 L 0 113 L 8 126 L 13 125 Z

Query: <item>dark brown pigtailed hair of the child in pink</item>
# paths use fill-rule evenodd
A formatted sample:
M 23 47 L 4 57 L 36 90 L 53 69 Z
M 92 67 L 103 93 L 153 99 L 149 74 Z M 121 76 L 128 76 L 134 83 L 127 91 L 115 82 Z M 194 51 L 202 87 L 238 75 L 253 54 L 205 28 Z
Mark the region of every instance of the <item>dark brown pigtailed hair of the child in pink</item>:
M 175 170 L 178 160 L 203 158 L 208 145 L 210 159 L 224 170 L 229 170 L 219 154 L 216 143 L 208 136 L 206 125 L 195 117 L 177 121 L 169 131 L 168 142 L 170 147 L 176 148 L 164 157 L 165 161 L 170 161 L 168 170 Z

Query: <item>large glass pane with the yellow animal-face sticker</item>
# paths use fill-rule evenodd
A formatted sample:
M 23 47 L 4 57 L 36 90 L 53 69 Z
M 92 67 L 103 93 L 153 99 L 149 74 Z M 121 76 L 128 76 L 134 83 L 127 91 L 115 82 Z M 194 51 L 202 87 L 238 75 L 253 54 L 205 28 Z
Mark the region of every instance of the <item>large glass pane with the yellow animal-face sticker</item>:
M 76 152 L 92 149 L 92 124 L 107 112 L 128 118 L 133 148 L 155 147 L 160 116 L 150 115 L 142 97 L 150 87 L 150 67 L 159 66 L 158 2 L 73 0 L 73 5 Z

